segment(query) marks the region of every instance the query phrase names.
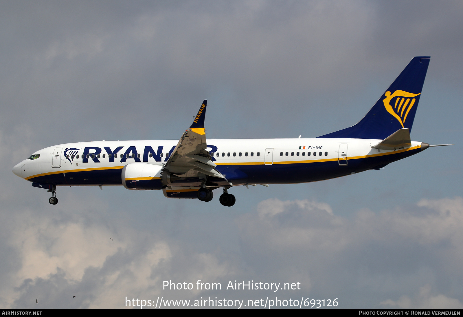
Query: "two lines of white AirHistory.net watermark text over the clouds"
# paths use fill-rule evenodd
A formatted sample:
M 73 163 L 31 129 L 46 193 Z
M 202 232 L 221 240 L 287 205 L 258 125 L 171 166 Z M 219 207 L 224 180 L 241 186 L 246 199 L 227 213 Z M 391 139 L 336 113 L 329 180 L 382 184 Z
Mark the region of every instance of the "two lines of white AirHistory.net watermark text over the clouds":
M 224 285 L 225 286 L 225 285 Z M 163 291 L 295 291 L 301 289 L 300 282 L 294 283 L 266 283 L 255 282 L 254 280 L 248 281 L 229 281 L 226 287 L 222 287 L 222 283 L 206 283 L 198 279 L 195 283 L 181 282 L 175 283 L 172 280 L 163 281 Z M 294 294 L 294 293 L 293 293 Z M 165 295 L 168 295 L 167 293 Z M 236 293 L 235 293 L 236 295 Z M 169 296 L 170 297 L 170 296 Z M 284 296 L 267 296 L 265 298 L 246 298 L 236 299 L 226 298 L 223 296 L 207 296 L 197 299 L 172 299 L 158 296 L 154 299 L 139 299 L 125 297 L 125 307 L 134 308 L 169 308 L 169 307 L 192 307 L 192 308 L 209 308 L 209 307 L 223 307 L 223 308 L 330 308 L 338 306 L 338 298 L 292 298 Z

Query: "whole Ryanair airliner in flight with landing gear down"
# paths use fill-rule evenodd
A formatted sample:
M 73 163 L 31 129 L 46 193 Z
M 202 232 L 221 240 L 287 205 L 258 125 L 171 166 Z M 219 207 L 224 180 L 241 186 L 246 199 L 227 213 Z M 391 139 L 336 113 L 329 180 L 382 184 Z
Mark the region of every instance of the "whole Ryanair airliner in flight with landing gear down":
M 296 184 L 379 170 L 432 146 L 410 140 L 430 57 L 413 57 L 356 125 L 314 139 L 206 139 L 205 100 L 176 140 L 60 144 L 34 152 L 13 173 L 52 193 L 57 186 L 122 185 L 169 198 L 232 206 L 233 186 Z M 443 145 L 434 145 L 443 146 Z

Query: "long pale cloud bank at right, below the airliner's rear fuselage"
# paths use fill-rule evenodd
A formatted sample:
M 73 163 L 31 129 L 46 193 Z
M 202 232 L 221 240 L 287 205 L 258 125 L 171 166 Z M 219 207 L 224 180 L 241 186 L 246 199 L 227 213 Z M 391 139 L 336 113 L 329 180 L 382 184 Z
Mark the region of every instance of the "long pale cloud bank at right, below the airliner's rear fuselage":
M 463 251 L 463 198 L 421 200 L 417 206 L 425 209 L 386 209 L 379 214 L 363 209 L 353 219 L 346 219 L 336 216 L 326 203 L 268 199 L 257 206 L 257 216 L 248 214 L 239 223 L 244 235 L 259 230 L 262 241 L 279 239 L 282 248 L 294 244 L 323 248 L 320 239 L 332 247 L 407 239 L 424 247 L 448 240 L 452 248 Z M 281 232 L 275 235 L 275 230 Z M 282 239 L 296 232 L 299 238 Z

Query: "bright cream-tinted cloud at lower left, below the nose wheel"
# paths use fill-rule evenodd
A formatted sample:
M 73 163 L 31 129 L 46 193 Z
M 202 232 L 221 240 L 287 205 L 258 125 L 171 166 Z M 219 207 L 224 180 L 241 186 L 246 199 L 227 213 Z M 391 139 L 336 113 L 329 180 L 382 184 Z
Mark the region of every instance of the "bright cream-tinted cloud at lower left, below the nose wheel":
M 127 247 L 126 242 L 114 239 L 115 233 L 101 225 L 60 222 L 49 215 L 36 217 L 31 211 L 16 212 L 9 225 L 3 228 L 8 230 L 5 242 L 15 251 L 19 266 L 9 274 L 9 283 L 1 290 L 9 294 L 2 296 L 7 306 L 20 296 L 8 286 L 19 287 L 24 281 L 47 280 L 56 274 L 77 284 L 88 268 L 101 268 L 107 257 Z

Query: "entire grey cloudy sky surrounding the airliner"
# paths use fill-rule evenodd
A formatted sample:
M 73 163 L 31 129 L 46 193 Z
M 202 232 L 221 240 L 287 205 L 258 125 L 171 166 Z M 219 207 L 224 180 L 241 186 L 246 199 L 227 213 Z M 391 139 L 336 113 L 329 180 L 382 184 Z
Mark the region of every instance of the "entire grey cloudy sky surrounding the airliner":
M 0 307 L 462 308 L 462 18 L 461 1 L 1 2 Z M 355 124 L 423 55 L 412 139 L 456 145 L 381 171 L 233 188 L 232 208 L 122 187 L 59 188 L 51 206 L 11 172 L 60 143 L 178 139 L 203 99 L 208 138 L 316 137 Z M 166 279 L 301 290 L 168 292 Z

